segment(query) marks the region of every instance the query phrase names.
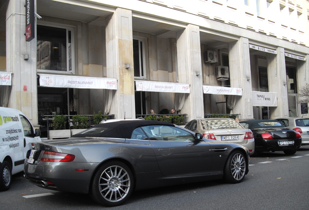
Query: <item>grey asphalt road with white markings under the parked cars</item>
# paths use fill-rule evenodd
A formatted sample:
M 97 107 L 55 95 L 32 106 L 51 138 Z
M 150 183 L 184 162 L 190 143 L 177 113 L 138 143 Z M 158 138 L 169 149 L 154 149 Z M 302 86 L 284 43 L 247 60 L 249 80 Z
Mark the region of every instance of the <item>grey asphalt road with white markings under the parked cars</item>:
M 252 157 L 240 184 L 209 181 L 134 192 L 120 207 L 105 208 L 87 195 L 35 187 L 22 174 L 0 192 L 1 210 L 308 210 L 309 146 Z

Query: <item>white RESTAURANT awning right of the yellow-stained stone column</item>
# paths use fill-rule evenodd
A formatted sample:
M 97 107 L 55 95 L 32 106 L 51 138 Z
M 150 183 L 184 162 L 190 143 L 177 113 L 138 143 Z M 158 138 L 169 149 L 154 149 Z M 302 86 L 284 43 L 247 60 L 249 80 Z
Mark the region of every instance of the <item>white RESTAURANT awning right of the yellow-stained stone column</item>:
M 190 93 L 190 85 L 153 81 L 135 81 L 137 91 Z

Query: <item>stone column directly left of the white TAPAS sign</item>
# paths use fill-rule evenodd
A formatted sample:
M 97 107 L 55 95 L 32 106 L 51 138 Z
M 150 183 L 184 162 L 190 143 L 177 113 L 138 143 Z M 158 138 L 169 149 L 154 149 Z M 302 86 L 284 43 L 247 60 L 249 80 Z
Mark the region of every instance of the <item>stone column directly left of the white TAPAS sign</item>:
M 233 113 L 240 114 L 241 120 L 253 119 L 249 40 L 240 37 L 236 43 L 230 43 L 228 57 L 231 88 L 242 88 Z

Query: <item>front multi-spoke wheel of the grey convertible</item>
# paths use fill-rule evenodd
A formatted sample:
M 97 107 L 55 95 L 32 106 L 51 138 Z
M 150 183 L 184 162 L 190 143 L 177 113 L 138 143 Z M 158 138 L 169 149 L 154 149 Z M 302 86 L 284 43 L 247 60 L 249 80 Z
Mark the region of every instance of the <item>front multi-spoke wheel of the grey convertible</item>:
M 246 175 L 247 158 L 240 152 L 234 151 L 227 158 L 223 178 L 228 183 L 240 183 Z

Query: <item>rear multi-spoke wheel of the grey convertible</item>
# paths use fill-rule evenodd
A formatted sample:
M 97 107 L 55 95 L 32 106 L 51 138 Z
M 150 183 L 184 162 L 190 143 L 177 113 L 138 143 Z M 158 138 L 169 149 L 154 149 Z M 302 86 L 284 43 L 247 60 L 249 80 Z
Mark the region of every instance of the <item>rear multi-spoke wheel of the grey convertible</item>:
M 134 178 L 130 168 L 120 161 L 99 167 L 91 183 L 90 196 L 104 206 L 118 206 L 132 194 Z

